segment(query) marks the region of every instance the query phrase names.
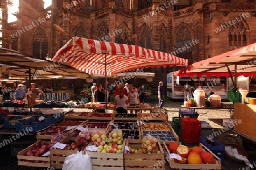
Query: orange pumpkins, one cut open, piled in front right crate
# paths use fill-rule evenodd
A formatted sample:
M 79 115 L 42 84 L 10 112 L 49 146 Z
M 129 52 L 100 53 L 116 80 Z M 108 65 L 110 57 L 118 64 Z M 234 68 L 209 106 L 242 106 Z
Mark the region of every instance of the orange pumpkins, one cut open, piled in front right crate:
M 176 142 L 171 142 L 168 146 L 170 153 L 179 154 L 182 160 L 174 159 L 176 163 L 188 164 L 215 164 L 216 160 L 210 152 L 203 151 L 199 146 L 192 148 L 184 145 L 178 145 Z

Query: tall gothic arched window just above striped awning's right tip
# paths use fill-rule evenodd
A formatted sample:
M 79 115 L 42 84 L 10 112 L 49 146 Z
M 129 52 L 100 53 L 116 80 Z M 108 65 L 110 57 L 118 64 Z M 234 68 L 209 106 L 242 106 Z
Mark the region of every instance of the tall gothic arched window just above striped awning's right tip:
M 192 46 L 191 44 L 191 32 L 189 31 L 188 27 L 185 25 L 181 25 L 176 33 L 176 48 L 172 55 L 188 59 L 189 64 L 193 62 L 192 58 Z

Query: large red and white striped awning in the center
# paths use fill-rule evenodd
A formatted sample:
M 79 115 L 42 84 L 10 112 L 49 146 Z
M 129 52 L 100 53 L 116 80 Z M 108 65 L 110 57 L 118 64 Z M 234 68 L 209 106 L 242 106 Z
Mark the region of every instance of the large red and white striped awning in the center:
M 72 66 L 87 74 L 102 75 L 114 75 L 144 67 L 188 65 L 187 59 L 169 53 L 82 37 L 73 37 L 57 51 L 52 61 Z

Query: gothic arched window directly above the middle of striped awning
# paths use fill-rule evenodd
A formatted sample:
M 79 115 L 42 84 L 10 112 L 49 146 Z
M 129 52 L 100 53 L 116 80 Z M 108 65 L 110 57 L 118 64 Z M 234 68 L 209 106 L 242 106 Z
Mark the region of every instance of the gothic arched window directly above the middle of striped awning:
M 130 32 L 129 28 L 127 27 L 127 25 L 125 23 L 122 23 L 118 27 L 118 31 L 119 31 L 119 29 L 121 29 L 122 32 L 121 33 L 118 32 L 118 34 L 115 35 L 115 42 L 118 44 L 130 44 L 131 32 Z

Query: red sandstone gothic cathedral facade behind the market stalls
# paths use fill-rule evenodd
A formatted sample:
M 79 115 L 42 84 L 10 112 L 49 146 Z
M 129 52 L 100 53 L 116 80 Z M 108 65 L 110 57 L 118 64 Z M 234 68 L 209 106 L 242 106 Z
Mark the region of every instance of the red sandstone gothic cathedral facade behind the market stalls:
M 44 59 L 80 36 L 171 53 L 191 64 L 256 42 L 254 0 L 52 0 L 52 6 L 43 5 L 19 0 L 17 21 L 3 25 L 3 37 L 12 40 L 4 47 Z M 179 68 L 144 71 L 156 73 L 150 83 L 156 87 Z

